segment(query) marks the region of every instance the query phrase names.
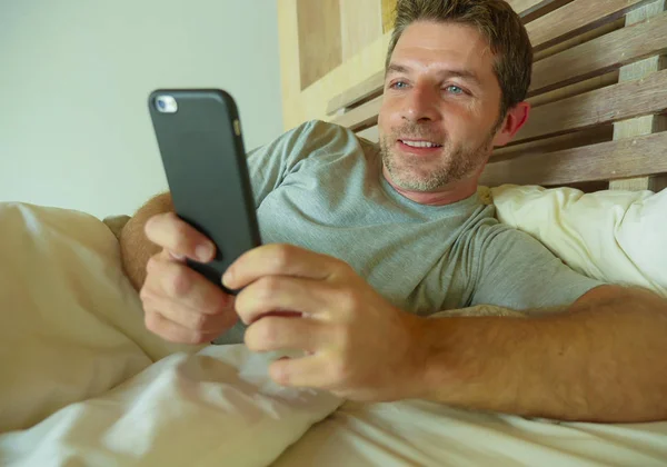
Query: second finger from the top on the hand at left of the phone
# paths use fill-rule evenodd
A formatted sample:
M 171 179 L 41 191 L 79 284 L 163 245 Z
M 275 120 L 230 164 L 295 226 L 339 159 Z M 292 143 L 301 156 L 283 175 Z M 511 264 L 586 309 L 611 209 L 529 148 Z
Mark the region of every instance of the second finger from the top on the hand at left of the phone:
M 169 298 L 206 315 L 221 314 L 233 306 L 232 296 L 183 264 L 153 257 L 147 270 L 145 294 Z

